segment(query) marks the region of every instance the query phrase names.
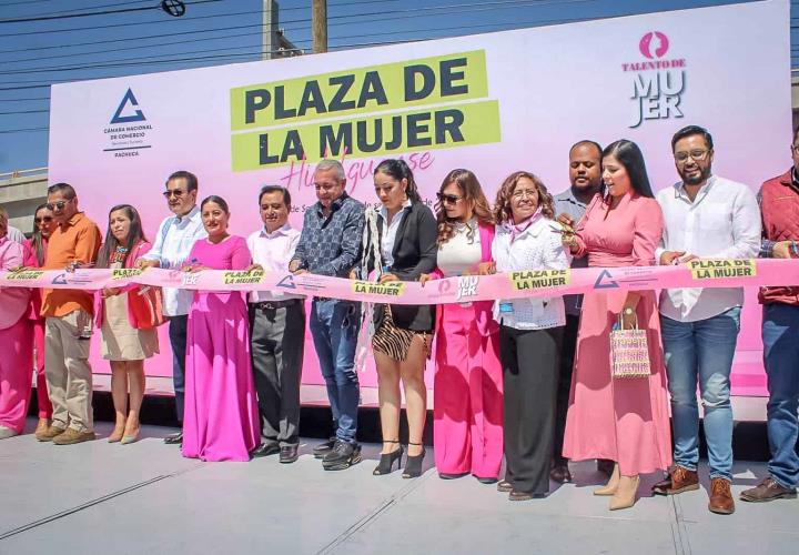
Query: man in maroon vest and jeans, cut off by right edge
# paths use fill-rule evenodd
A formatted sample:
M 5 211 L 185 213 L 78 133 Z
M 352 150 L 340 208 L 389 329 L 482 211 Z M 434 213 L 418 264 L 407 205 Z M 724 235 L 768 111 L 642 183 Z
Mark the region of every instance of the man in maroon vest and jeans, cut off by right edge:
M 791 144 L 793 167 L 762 184 L 760 255 L 799 259 L 799 128 Z M 786 280 L 787 281 L 787 280 Z M 787 283 L 761 287 L 763 365 L 768 376 L 767 430 L 771 460 L 769 475 L 741 492 L 741 501 L 762 503 L 793 500 L 799 485 L 799 286 Z

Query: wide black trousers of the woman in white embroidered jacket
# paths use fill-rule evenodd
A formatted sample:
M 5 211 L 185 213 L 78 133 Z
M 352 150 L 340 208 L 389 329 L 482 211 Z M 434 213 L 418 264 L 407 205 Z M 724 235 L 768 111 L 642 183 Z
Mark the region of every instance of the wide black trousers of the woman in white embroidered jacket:
M 503 365 L 505 480 L 517 492 L 549 492 L 555 393 L 563 327 L 499 329 Z

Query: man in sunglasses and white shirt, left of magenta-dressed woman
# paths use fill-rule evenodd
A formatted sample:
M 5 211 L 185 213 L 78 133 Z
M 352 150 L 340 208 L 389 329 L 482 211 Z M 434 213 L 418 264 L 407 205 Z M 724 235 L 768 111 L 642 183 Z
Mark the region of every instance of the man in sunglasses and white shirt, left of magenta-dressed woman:
M 196 205 L 198 179 L 186 171 L 174 172 L 166 180 L 163 192 L 169 209 L 174 215 L 161 222 L 153 248 L 136 261 L 138 268 L 171 268 L 180 270 L 186 263 L 191 248 L 198 239 L 208 235 Z M 186 324 L 193 292 L 164 287 L 163 313 L 170 322 L 172 345 L 172 380 L 175 393 L 178 422 L 183 423 Z M 180 444 L 183 433 L 170 434 L 164 443 Z

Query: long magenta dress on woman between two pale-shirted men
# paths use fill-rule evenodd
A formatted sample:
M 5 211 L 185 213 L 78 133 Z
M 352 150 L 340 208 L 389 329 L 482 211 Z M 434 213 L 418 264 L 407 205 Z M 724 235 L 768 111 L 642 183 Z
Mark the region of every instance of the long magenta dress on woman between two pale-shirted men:
M 250 250 L 232 235 L 194 243 L 189 260 L 214 270 L 244 270 Z M 196 291 L 186 332 L 183 456 L 249 461 L 259 441 L 246 303 L 241 292 Z

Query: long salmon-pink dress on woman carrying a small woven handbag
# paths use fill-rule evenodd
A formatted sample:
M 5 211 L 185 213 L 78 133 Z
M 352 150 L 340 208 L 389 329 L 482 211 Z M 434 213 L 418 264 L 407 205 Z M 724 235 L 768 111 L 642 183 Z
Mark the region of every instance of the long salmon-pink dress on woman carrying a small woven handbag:
M 606 213 L 607 205 L 595 196 L 577 229 L 577 255 L 587 253 L 590 266 L 653 265 L 664 228 L 657 201 L 627 194 L 607 219 Z M 616 461 L 625 476 L 666 470 L 671 464 L 657 297 L 654 291 L 640 294 L 636 313 L 638 325 L 647 330 L 649 379 L 610 377 L 609 334 L 627 293 L 608 290 L 587 293 L 583 300 L 563 452 L 574 461 Z

